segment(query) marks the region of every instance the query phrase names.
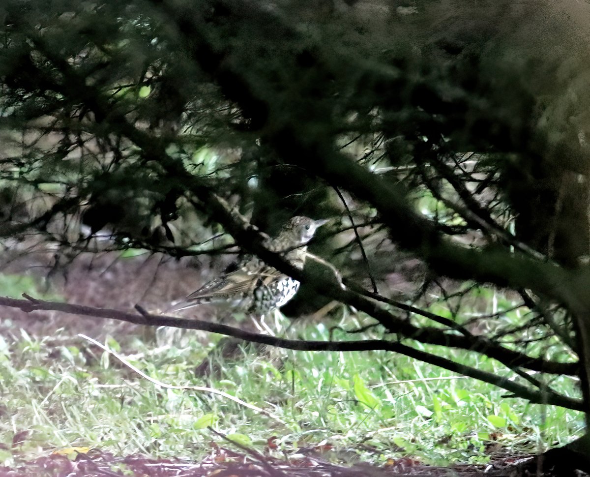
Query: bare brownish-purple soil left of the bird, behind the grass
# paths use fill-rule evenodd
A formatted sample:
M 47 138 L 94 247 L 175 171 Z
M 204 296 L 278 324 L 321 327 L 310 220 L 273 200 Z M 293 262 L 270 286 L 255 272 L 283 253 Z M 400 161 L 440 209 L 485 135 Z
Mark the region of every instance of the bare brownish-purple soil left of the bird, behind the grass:
M 84 253 L 71 261 L 61 259 L 67 263 L 55 267 L 54 255 L 44 251 L 6 254 L 3 258 L 0 273 L 34 276 L 41 284 L 40 293 L 57 293 L 68 303 L 123 311 L 133 311 L 136 304 L 148 311 L 164 310 L 173 300 L 196 290 L 228 261 L 227 257 L 213 261 L 206 257 L 175 260 L 162 254 L 121 258 L 119 253 Z M 202 308 L 199 312 L 210 313 L 211 310 Z M 201 317 L 207 318 L 206 315 Z M 106 335 L 155 334 L 155 330 L 147 326 L 106 319 L 3 309 L 0 332 L 10 334 L 20 328 L 34 336 L 51 336 L 55 329 L 65 328 L 71 335 L 84 333 L 99 341 Z

